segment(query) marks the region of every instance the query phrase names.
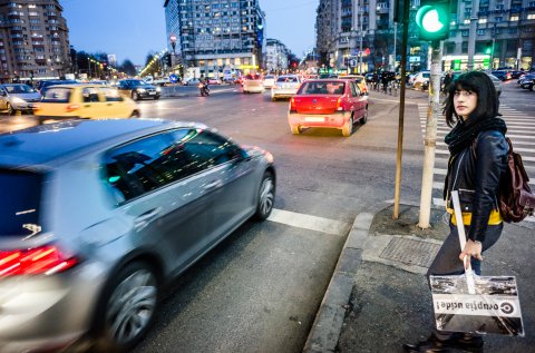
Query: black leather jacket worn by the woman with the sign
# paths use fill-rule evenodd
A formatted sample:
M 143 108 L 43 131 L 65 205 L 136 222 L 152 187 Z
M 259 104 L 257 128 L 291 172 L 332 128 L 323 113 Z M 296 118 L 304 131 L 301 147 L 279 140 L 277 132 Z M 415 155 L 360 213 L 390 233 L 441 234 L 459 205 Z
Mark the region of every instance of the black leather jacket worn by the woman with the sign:
M 485 239 L 490 213 L 498 209 L 498 187 L 507 167 L 507 151 L 504 135 L 486 130 L 478 135 L 475 146 L 449 158 L 444 198 L 453 209 L 451 190 L 459 192 L 463 213 L 471 213 L 469 239 Z

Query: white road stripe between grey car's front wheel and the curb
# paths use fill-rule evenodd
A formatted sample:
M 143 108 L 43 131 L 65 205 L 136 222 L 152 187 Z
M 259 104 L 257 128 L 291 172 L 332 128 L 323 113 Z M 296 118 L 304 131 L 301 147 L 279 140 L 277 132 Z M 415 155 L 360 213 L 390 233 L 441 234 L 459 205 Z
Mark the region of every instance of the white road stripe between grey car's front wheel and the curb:
M 282 223 L 292 227 L 322 232 L 333 235 L 344 235 L 351 225 L 346 222 L 317 217 L 296 212 L 273 208 L 268 220 Z

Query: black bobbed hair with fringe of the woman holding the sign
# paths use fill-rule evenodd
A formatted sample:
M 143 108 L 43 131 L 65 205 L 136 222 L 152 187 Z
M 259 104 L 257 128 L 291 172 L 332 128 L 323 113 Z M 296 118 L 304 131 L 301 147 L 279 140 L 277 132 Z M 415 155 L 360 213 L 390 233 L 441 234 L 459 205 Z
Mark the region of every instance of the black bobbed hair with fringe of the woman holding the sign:
M 499 99 L 490 77 L 481 71 L 468 71 L 457 77 L 448 87 L 448 98 L 444 104 L 448 126 L 453 127 L 459 120 L 454 106 L 455 92 L 459 90 L 477 94 L 477 107 L 470 114 L 470 119 L 487 119 L 499 115 Z

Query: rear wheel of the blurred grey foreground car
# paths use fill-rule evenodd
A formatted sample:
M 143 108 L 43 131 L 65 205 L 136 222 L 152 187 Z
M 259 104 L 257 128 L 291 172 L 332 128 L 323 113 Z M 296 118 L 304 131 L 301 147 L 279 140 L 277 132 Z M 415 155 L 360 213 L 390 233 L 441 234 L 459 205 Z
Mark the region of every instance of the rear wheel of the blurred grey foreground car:
M 97 308 L 98 352 L 129 352 L 150 327 L 159 295 L 158 278 L 147 263 L 136 262 L 111 278 Z

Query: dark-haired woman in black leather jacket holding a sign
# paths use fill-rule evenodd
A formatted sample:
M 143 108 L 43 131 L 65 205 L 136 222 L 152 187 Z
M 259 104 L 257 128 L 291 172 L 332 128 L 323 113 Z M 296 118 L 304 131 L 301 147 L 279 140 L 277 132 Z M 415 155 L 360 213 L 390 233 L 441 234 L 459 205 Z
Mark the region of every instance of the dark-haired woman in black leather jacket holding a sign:
M 498 188 L 506 170 L 508 145 L 507 127 L 499 118 L 498 96 L 485 72 L 460 75 L 448 88 L 444 112 L 453 127 L 445 141 L 450 153 L 444 197 L 450 214 L 450 233 L 427 276 L 460 275 L 465 272 L 463 258 L 468 256 L 476 275 L 481 274 L 481 254 L 493 246 L 503 229 Z M 455 125 L 455 126 L 454 126 Z M 455 223 L 451 192 L 459 192 L 463 223 L 467 235 L 460 249 Z M 405 352 L 449 352 L 458 349 L 483 352 L 483 339 L 477 334 L 434 330 L 417 344 L 403 344 Z

